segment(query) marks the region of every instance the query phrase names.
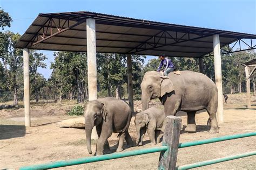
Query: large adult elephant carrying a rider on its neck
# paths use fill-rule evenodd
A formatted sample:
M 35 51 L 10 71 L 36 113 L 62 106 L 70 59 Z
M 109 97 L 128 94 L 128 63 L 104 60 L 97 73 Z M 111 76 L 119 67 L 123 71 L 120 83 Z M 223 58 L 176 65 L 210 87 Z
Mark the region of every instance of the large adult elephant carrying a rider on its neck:
M 146 72 L 140 84 L 143 110 L 149 108 L 151 99 L 159 98 L 164 105 L 165 116 L 175 115 L 180 110 L 187 112 L 185 131 L 196 132 L 196 112 L 206 109 L 211 121 L 209 132 L 218 133 L 218 90 L 214 82 L 201 73 L 180 73 L 181 75 L 169 73 L 169 76 L 161 76 L 161 73 L 155 71 Z

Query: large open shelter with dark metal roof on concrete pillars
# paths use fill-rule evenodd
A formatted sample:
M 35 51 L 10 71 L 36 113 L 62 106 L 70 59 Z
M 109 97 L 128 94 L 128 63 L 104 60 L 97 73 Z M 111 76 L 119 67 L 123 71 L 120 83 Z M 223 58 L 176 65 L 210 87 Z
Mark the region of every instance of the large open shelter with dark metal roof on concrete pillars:
M 251 43 L 244 39 L 250 40 Z M 96 52 L 127 55 L 129 105 L 133 110 L 132 54 L 192 57 L 203 71 L 205 56 L 214 55 L 215 83 L 218 88 L 217 119 L 223 123 L 221 47 L 244 43 L 255 49 L 255 34 L 206 29 L 79 11 L 40 13 L 17 42 L 24 50 L 25 126 L 30 126 L 29 49 L 87 52 L 89 100 L 97 98 Z M 231 53 L 228 46 L 224 53 Z M 244 51 L 248 49 L 238 49 Z

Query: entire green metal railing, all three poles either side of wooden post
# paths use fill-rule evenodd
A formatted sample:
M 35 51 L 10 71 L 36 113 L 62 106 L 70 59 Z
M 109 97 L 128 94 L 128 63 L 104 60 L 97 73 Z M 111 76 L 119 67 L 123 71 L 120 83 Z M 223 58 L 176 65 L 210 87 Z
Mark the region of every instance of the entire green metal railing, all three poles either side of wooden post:
M 256 132 L 234 134 L 234 135 L 230 135 L 230 136 L 223 136 L 223 137 L 218 137 L 218 138 L 211 138 L 211 139 L 205 139 L 205 140 L 197 140 L 197 141 L 190 141 L 190 142 L 186 142 L 186 143 L 180 143 L 179 148 L 197 146 L 197 145 L 203 145 L 203 144 L 210 144 L 210 143 L 215 143 L 215 142 L 224 141 L 224 140 L 245 138 L 245 137 L 251 137 L 251 136 L 256 136 Z M 41 165 L 31 165 L 31 166 L 21 167 L 20 169 L 58 168 L 58 167 L 64 167 L 64 166 L 86 164 L 86 163 L 90 163 L 90 162 L 131 157 L 134 155 L 154 153 L 154 152 L 160 152 L 160 151 L 168 151 L 168 150 L 169 150 L 168 146 L 158 146 L 158 147 L 152 147 L 152 148 L 145 148 L 143 150 L 105 154 L 105 155 L 100 155 L 100 156 L 96 156 L 96 157 L 86 157 L 86 158 L 79 158 L 79 159 L 73 159 L 73 160 L 68 160 L 68 161 L 56 161 L 56 162 L 50 162 L 48 164 L 41 164 Z M 207 161 L 203 161 L 203 162 L 197 162 L 197 163 L 189 164 L 189 165 L 183 165 L 183 166 L 179 166 L 177 168 L 178 169 L 196 168 L 196 167 L 200 167 L 200 166 L 217 164 L 217 163 L 223 162 L 223 161 L 228 161 L 228 160 L 233 160 L 233 159 L 238 159 L 238 158 L 243 158 L 243 157 L 249 157 L 251 155 L 256 155 L 256 151 L 241 153 L 238 155 L 232 155 L 232 156 L 213 159 L 213 160 L 207 160 Z

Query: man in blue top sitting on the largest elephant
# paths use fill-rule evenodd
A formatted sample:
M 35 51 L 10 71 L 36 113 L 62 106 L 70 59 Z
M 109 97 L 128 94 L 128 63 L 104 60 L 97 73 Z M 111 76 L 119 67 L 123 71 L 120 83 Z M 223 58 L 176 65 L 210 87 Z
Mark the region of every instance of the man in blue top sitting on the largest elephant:
M 164 66 L 165 69 L 162 71 L 164 72 L 164 76 L 168 76 L 168 73 L 173 72 L 174 65 L 170 59 L 165 58 L 165 54 L 161 54 L 159 56 L 160 64 L 157 69 L 157 72 L 160 72 L 161 68 Z

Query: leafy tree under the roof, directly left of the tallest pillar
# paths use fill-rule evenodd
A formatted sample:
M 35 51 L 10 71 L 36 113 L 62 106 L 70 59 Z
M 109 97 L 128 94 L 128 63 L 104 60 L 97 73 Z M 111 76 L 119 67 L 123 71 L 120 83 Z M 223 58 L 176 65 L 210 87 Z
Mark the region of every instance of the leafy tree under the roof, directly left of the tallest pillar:
M 78 103 L 84 101 L 87 95 L 87 56 L 78 52 L 57 52 L 55 62 L 51 63 L 52 75 L 50 82 L 58 90 L 59 101 L 63 94 L 69 92 L 69 98 L 74 87 L 77 91 Z

